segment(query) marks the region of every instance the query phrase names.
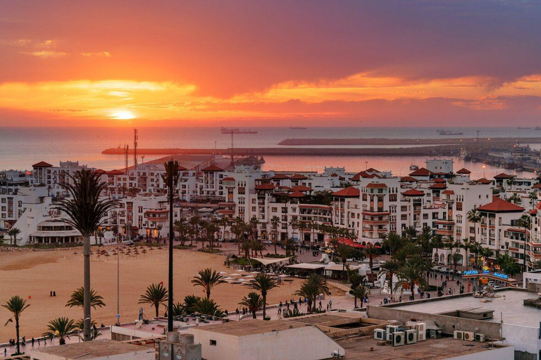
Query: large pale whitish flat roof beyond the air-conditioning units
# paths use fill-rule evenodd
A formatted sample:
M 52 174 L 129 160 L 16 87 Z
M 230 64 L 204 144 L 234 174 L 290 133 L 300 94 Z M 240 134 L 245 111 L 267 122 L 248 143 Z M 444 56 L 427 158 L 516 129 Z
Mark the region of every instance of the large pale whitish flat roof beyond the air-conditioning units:
M 482 298 L 473 296 L 463 297 L 440 297 L 437 300 L 392 306 L 392 309 L 418 311 L 426 314 L 441 314 L 447 311 L 460 309 L 483 308 L 494 311 L 494 317 L 483 321 L 499 323 L 502 313 L 504 323 L 519 326 L 539 327 L 541 310 L 534 307 L 525 307 L 523 300 L 537 297 L 536 293 L 528 293 L 526 290 L 499 290 L 497 295 L 502 297 L 484 297 L 491 302 L 482 302 Z

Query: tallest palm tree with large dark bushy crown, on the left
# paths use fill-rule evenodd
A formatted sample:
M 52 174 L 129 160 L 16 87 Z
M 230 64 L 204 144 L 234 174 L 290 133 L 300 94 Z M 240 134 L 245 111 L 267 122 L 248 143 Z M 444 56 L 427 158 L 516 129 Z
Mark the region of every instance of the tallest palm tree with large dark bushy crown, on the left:
M 68 174 L 71 181 L 60 184 L 70 194 L 69 198 L 60 200 L 57 209 L 65 212 L 66 223 L 77 229 L 82 235 L 82 255 L 84 259 L 84 316 L 85 341 L 90 341 L 90 236 L 104 224 L 108 212 L 113 210 L 116 202 L 109 198 L 101 198 L 109 184 L 101 182 L 99 174 L 89 169 L 82 169 L 75 176 Z

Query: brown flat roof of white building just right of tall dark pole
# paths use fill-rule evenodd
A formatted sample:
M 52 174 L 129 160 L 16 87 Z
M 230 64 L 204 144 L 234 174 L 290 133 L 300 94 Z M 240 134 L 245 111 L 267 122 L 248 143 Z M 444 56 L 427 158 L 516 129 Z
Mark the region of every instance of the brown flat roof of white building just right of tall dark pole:
M 304 323 L 295 323 L 286 320 L 247 320 L 247 321 L 230 321 L 228 323 L 220 323 L 218 325 L 199 326 L 191 328 L 190 331 L 211 331 L 234 336 L 246 336 L 252 334 L 270 333 L 275 330 L 288 330 L 291 328 L 304 328 Z

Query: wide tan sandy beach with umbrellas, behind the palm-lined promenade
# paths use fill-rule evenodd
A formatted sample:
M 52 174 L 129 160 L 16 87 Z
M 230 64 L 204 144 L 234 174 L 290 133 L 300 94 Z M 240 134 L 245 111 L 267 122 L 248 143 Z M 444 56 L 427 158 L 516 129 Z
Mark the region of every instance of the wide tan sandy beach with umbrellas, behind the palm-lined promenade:
M 95 251 L 96 248 L 93 249 Z M 77 255 L 73 255 L 77 252 Z M 0 304 L 13 295 L 27 299 L 30 304 L 20 318 L 21 336 L 32 338 L 44 333 L 46 324 L 58 316 L 81 319 L 82 309 L 66 307 L 66 302 L 75 288 L 82 286 L 82 249 L 40 250 L 33 252 L 0 252 Z M 202 252 L 175 250 L 175 299 L 182 301 L 185 295 L 203 296 L 200 287 L 190 282 L 197 271 L 211 267 L 228 274 L 234 272 L 223 263 L 223 255 L 210 255 Z M 120 321 L 130 322 L 137 318 L 139 307 L 146 316 L 153 317 L 153 309 L 137 304 L 139 296 L 150 283 L 167 284 L 167 250 L 154 250 L 137 257 L 120 256 Z M 104 297 L 106 307 L 92 311 L 92 319 L 106 325 L 116 321 L 117 262 L 116 257 L 92 255 L 92 288 Z M 299 280 L 284 283 L 280 288 L 270 291 L 268 302 L 275 304 L 290 299 L 299 287 Z M 56 291 L 56 297 L 49 292 Z M 243 285 L 218 285 L 211 298 L 223 309 L 235 310 L 238 302 L 249 293 Z M 0 323 L 3 325 L 11 316 L 0 308 Z M 0 342 L 15 337 L 15 324 L 0 326 Z

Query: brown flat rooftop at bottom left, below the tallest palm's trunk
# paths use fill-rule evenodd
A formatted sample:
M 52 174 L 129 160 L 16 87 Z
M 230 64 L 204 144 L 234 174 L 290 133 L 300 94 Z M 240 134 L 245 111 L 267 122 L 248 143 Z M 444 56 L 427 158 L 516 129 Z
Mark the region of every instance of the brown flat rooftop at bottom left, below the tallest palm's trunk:
M 132 354 L 134 352 L 151 352 L 154 354 L 156 350 L 154 350 L 154 347 L 125 344 L 124 342 L 102 339 L 54 347 L 44 347 L 39 350 L 32 350 L 32 352 L 54 355 L 63 359 L 96 359 L 104 356 Z

